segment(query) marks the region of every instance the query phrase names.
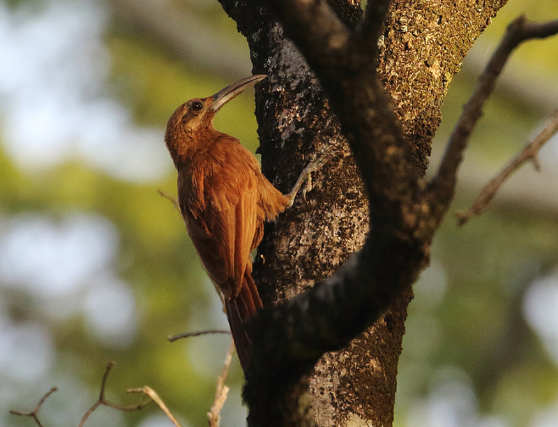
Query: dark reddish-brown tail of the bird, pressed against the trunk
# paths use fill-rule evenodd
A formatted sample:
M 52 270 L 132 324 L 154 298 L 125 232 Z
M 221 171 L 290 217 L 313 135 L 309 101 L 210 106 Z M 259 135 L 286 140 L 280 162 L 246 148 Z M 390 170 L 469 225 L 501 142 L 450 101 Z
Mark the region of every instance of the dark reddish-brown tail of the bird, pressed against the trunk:
M 236 297 L 225 301 L 227 320 L 229 320 L 232 339 L 236 347 L 236 354 L 239 355 L 242 370 L 246 370 L 250 364 L 252 347 L 252 340 L 246 330 L 246 322 L 260 308 L 262 308 L 262 300 L 259 298 L 250 269 L 246 269 L 240 293 Z

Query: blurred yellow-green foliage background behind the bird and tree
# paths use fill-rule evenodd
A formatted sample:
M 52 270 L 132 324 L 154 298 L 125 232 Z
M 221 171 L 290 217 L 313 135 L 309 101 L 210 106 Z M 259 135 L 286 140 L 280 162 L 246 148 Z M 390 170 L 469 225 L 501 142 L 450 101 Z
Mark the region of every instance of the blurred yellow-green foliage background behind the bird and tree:
M 62 0 L 58 3 L 66 4 Z M 211 35 L 216 36 L 215 43 L 227 40 L 227 51 L 238 67 L 204 68 L 203 59 L 180 54 L 164 38 L 128 15 L 126 1 L 98 2 L 98 7 L 105 8 L 110 16 L 103 33 L 111 64 L 106 91 L 126 105 L 137 126 L 160 130 L 161 149 L 165 149 L 165 123 L 174 108 L 188 98 L 209 96 L 243 77 L 239 70 L 250 72 L 246 43 L 216 1 L 163 3 L 165 13 L 176 10 L 176 17 L 190 16 L 206 27 L 207 31 L 199 34 L 189 33 L 185 25 L 184 31 L 194 38 L 194 43 L 199 37 Z M 42 4 L 43 1 L 20 0 L 4 6 L 15 16 L 22 8 L 40 10 Z M 467 59 L 446 98 L 433 164 L 479 67 L 494 50 L 506 24 L 522 12 L 529 18 L 545 20 L 558 16 L 558 6 L 551 0 L 511 0 L 483 34 L 472 55 L 476 59 Z M 554 38 L 529 42 L 514 55 L 506 76 L 519 82 L 520 89 L 533 97 L 525 98 L 525 90 L 514 90 L 512 85 L 511 89 L 499 89 L 490 100 L 474 134 L 472 151 L 463 167 L 464 183 L 453 211 L 465 209 L 472 202 L 478 192 L 474 177 L 495 172 L 529 140 L 548 114 L 548 103 L 536 94 L 541 90 L 557 93 L 557 52 L 558 40 Z M 216 121 L 220 130 L 239 137 L 252 150 L 257 147 L 253 108 L 252 98 L 241 96 L 220 112 Z M 0 121 L 2 138 L 7 136 L 1 133 Z M 10 221 L 29 216 L 47 218 L 54 224 L 63 223 L 75 213 L 106 220 L 117 235 L 112 267 L 133 292 L 136 324 L 128 344 L 112 345 L 91 331 L 79 310 L 69 317 L 52 316 L 43 309 L 46 303 L 40 294 L 17 283 L 0 282 L 3 322 L 15 328 L 40 324 L 48 331 L 54 348 L 54 359 L 45 372 L 30 381 L 15 382 L 10 376 L 10 354 L 2 355 L 0 345 L 0 361 L 2 357 L 7 360 L 0 363 L 0 424 L 31 426 L 29 419 L 8 415 L 8 408 L 30 410 L 40 396 L 56 385 L 59 391 L 40 412 L 44 424 L 77 425 L 96 400 L 105 364 L 115 361 L 108 382 L 109 398 L 135 401 L 125 396 L 126 388 L 149 384 L 183 425 L 206 425 L 205 414 L 213 400 L 229 338 L 203 336 L 172 344 L 166 340 L 169 334 L 226 324 L 218 297 L 199 267 L 179 213 L 157 193 L 160 189 L 176 194 L 170 158 L 165 177 L 137 182 L 115 179 L 80 158 L 30 170 L 18 165 L 2 147 L 0 232 L 9 230 Z M 541 152 L 541 157 L 554 156 L 556 160 L 556 151 L 554 141 Z M 552 168 L 554 163 L 550 161 L 545 167 L 549 165 Z M 558 424 L 558 359 L 549 350 L 556 336 L 552 338 L 549 333 L 549 341 L 548 336 L 533 329 L 524 310 L 526 292 L 536 280 L 553 277 L 552 286 L 558 288 L 558 191 L 554 201 L 518 202 L 513 194 L 523 193 L 514 193 L 514 183 L 534 174 L 529 169 L 527 165 L 522 178 L 506 184 L 512 195 L 498 197 L 481 218 L 473 218 L 458 228 L 448 216 L 437 235 L 432 267 L 416 285 L 416 298 L 410 308 L 400 364 L 396 425 Z M 553 185 L 556 190 L 558 183 Z M 535 195 L 537 191 L 531 188 Z M 541 197 L 546 196 L 541 193 Z M 63 307 L 68 301 L 72 304 L 73 300 L 61 297 L 56 304 Z M 557 316 L 554 313 L 554 323 Z M 558 336 L 558 332 L 555 334 Z M 29 364 L 33 364 L 32 357 Z M 241 425 L 244 410 L 239 396 L 241 372 L 236 361 L 228 383 L 232 390 L 223 412 L 223 425 Z M 544 424 L 547 419 L 549 424 Z M 170 424 L 152 406 L 126 414 L 100 408 L 86 425 Z

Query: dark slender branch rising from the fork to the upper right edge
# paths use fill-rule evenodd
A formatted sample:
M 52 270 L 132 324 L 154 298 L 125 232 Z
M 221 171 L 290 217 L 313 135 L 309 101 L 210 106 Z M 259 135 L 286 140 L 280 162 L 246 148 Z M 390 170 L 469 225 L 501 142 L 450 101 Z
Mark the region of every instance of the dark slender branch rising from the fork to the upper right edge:
M 504 69 L 508 58 L 515 47 L 530 38 L 545 38 L 558 33 L 558 20 L 545 22 L 543 24 L 527 22 L 524 16 L 518 17 L 508 25 L 506 35 L 500 42 L 496 52 L 492 54 L 481 77 L 478 79 L 476 88 L 471 97 L 463 107 L 463 111 L 455 128 L 451 133 L 446 147 L 446 153 L 442 163 L 430 183 L 431 196 L 438 203 L 442 202 L 442 216 L 453 197 L 455 183 L 457 180 L 458 167 L 461 163 L 463 152 L 467 148 L 469 137 L 476 122 L 481 117 L 483 106 L 495 88 L 497 78 Z

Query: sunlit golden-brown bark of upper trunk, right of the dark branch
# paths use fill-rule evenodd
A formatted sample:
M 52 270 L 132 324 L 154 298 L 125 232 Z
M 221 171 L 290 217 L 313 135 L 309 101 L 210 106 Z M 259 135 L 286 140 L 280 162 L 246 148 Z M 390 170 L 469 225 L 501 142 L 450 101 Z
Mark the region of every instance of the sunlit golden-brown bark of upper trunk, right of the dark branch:
M 391 1 L 378 73 L 423 170 L 449 85 L 506 1 Z

